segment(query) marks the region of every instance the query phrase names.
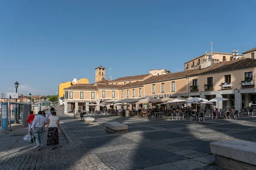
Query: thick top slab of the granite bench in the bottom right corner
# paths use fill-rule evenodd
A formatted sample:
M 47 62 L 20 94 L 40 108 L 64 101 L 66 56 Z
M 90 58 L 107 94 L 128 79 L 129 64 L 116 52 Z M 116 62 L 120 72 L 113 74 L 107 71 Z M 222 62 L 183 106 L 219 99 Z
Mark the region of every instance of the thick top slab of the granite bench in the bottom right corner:
M 256 165 L 256 143 L 231 139 L 210 143 L 210 148 L 215 155 Z

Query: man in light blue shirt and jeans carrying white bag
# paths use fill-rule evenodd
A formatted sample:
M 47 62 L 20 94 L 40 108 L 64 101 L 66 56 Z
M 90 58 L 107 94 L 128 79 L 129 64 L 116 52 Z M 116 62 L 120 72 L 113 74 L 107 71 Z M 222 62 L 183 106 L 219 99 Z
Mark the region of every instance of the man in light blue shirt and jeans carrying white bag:
M 37 150 L 41 150 L 41 139 L 43 134 L 44 123 L 47 122 L 45 117 L 42 116 L 42 111 L 38 111 L 38 116 L 33 120 L 32 126 L 30 127 L 29 133 L 34 129 L 35 142 L 37 144 Z

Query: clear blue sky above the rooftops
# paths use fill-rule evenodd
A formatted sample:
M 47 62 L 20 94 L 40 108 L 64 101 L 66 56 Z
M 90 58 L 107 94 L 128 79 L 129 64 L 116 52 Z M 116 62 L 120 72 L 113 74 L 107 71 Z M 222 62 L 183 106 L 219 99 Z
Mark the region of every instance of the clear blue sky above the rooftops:
M 210 51 L 256 47 L 256 1 L 1 0 L 0 93 L 56 94 L 73 78 L 184 69 Z

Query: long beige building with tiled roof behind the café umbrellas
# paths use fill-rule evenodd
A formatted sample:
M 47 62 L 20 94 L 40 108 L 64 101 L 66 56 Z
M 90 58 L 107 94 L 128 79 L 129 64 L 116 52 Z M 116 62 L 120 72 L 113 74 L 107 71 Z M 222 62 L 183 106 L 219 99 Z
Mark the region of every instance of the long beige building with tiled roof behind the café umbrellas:
M 190 97 L 204 99 L 224 97 L 229 100 L 215 103 L 219 108 L 235 106 L 236 110 L 256 104 L 256 59 L 238 59 L 217 62 L 207 68 L 189 69 L 176 73 L 144 74 L 102 80 L 90 85 L 65 88 L 65 113 L 89 111 L 90 103 L 100 104 L 111 99 L 137 99 L 141 97 Z M 126 82 L 126 83 L 125 83 Z M 117 84 L 116 84 L 117 83 Z M 212 108 L 212 105 L 201 104 Z M 112 106 L 108 106 L 112 107 Z M 136 105 L 133 108 L 140 108 Z M 130 107 L 131 108 L 131 107 Z M 100 107 L 95 109 L 99 110 Z

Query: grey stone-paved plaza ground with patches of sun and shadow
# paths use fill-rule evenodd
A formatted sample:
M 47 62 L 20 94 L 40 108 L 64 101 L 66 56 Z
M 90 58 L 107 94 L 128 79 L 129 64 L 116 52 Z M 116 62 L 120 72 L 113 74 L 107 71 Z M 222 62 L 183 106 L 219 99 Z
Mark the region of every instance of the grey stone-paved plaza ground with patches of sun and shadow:
M 16 125 L 0 133 L 0 169 L 9 170 L 224 170 L 214 164 L 209 143 L 255 140 L 256 118 L 211 119 L 205 122 L 148 118 L 93 116 L 85 123 L 56 108 L 63 129 L 61 145 L 42 150 L 23 140 L 27 127 Z M 128 133 L 111 133 L 105 122 L 128 125 Z

